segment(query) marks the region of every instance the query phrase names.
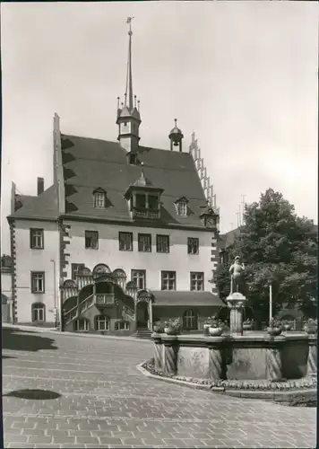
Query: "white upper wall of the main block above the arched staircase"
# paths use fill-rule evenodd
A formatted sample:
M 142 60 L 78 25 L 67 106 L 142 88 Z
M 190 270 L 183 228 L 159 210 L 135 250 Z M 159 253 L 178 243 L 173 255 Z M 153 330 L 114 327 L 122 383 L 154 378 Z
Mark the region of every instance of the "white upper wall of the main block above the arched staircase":
M 204 273 L 204 290 L 211 291 L 211 238 L 212 233 L 203 231 L 136 227 L 64 221 L 70 226 L 70 244 L 66 252 L 68 278 L 72 277 L 72 264 L 83 263 L 93 269 L 98 263 L 105 263 L 114 271 L 123 269 L 127 281 L 131 280 L 131 270 L 146 270 L 146 288 L 161 289 L 161 271 L 176 271 L 176 290 L 190 291 L 190 273 Z M 99 249 L 85 249 L 85 231 L 99 232 Z M 133 251 L 119 251 L 118 233 L 133 233 Z M 151 252 L 138 251 L 138 233 L 151 234 Z M 169 252 L 157 252 L 156 235 L 169 236 Z M 198 254 L 187 253 L 187 238 L 199 239 Z

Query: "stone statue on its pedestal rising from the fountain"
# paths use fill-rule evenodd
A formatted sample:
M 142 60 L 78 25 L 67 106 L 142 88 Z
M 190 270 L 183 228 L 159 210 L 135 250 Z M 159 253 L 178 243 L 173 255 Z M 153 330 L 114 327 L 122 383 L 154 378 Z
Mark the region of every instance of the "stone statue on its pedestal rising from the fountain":
M 230 273 L 230 294 L 227 302 L 230 308 L 230 332 L 243 335 L 243 312 L 247 298 L 239 292 L 243 286 L 243 275 L 245 265 L 240 257 L 236 256 L 234 263 L 229 269 Z

